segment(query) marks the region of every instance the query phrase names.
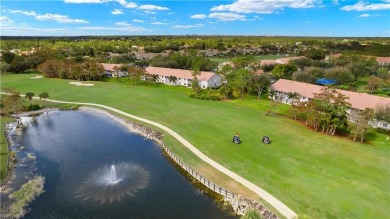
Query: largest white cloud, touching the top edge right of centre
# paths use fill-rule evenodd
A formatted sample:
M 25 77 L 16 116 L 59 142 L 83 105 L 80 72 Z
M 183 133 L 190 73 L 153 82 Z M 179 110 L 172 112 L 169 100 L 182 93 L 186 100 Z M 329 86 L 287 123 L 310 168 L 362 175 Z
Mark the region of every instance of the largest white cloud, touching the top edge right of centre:
M 273 13 L 283 8 L 313 8 L 321 0 L 237 0 L 230 5 L 219 5 L 211 11 L 230 11 L 235 13 Z

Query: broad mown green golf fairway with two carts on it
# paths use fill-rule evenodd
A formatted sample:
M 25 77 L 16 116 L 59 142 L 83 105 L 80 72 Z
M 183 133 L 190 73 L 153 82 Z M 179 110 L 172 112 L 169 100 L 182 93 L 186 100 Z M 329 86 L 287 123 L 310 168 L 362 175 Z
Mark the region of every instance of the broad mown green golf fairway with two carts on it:
M 46 91 L 50 99 L 104 104 L 161 123 L 300 216 L 390 218 L 390 141 L 386 133 L 372 134 L 370 144 L 362 145 L 314 132 L 283 116 L 265 116 L 267 100 L 203 101 L 189 98 L 189 89 L 115 82 L 88 82 L 95 86 L 77 87 L 69 85 L 69 80 L 31 80 L 32 76 L 3 75 L 1 88 L 36 95 Z M 280 112 L 287 108 L 283 104 L 278 107 Z M 231 142 L 236 132 L 240 145 Z M 272 143 L 261 143 L 263 135 Z M 171 137 L 165 142 L 194 169 L 213 175 L 206 164 L 191 157 Z M 224 185 L 224 179 L 219 180 L 217 183 Z

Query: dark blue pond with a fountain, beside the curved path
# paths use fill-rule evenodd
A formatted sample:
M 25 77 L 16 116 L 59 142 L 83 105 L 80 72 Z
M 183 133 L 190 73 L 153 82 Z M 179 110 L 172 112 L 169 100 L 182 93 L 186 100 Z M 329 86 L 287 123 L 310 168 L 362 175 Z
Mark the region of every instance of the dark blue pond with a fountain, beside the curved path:
M 45 177 L 45 193 L 25 218 L 237 218 L 191 184 L 155 142 L 102 115 L 42 114 L 12 141 L 23 148 L 18 156 L 36 157 L 18 161 L 14 185 Z

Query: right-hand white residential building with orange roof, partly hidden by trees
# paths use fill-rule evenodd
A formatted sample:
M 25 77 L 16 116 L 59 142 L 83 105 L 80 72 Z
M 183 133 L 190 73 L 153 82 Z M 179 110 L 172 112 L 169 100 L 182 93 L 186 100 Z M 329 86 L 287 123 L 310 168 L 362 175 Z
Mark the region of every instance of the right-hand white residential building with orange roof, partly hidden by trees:
M 307 102 L 314 98 L 315 94 L 321 93 L 323 86 L 307 84 L 297 81 L 291 81 L 286 79 L 279 79 L 271 85 L 271 90 L 276 91 L 274 100 L 286 104 L 291 104 L 292 100 L 288 98 L 288 94 L 299 93 L 300 102 Z M 337 92 L 345 95 L 349 99 L 347 100 L 351 104 L 351 108 L 348 110 L 349 114 L 353 114 L 357 111 L 363 111 L 365 108 L 375 109 L 377 106 L 390 106 L 390 98 L 374 96 L 366 93 L 357 93 L 352 91 L 345 91 L 336 89 Z M 390 130 L 390 124 L 383 121 L 371 121 L 370 123 L 374 127 L 381 127 Z

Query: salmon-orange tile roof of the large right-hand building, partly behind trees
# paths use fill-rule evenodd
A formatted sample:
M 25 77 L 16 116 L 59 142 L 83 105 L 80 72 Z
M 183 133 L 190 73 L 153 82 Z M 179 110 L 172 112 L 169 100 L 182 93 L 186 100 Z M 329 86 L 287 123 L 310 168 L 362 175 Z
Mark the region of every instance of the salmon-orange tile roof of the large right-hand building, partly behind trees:
M 271 85 L 271 89 L 282 91 L 285 93 L 289 92 L 297 92 L 304 97 L 313 98 L 314 94 L 321 92 L 322 86 L 307 84 L 297 81 L 290 81 L 285 79 L 280 79 L 274 84 Z M 338 92 L 344 94 L 349 97 L 347 100 L 354 109 L 364 110 L 365 108 L 373 108 L 375 109 L 378 105 L 390 105 L 390 98 L 387 97 L 379 97 L 366 93 L 357 93 L 352 91 L 345 91 L 336 89 Z

